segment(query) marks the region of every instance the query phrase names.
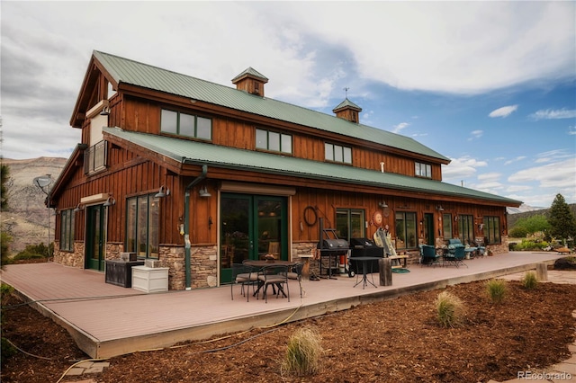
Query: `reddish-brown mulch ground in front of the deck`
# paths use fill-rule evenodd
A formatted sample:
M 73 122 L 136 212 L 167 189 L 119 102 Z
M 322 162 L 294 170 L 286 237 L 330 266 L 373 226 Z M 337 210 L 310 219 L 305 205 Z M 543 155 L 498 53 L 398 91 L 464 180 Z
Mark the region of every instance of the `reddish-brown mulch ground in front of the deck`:
M 465 325 L 437 325 L 440 290 L 350 310 L 229 334 L 210 343 L 111 358 L 101 374 L 61 381 L 96 382 L 486 382 L 517 377 L 567 359 L 576 319 L 576 286 L 539 283 L 536 290 L 509 281 L 503 304 L 492 304 L 485 282 L 448 287 L 467 307 Z M 12 298 L 9 305 L 18 305 Z M 4 363 L 4 383 L 56 382 L 75 361 L 87 359 L 60 326 L 27 306 L 4 311 L 4 336 L 25 352 Z M 324 349 L 320 373 L 304 378 L 280 368 L 294 330 L 314 326 Z

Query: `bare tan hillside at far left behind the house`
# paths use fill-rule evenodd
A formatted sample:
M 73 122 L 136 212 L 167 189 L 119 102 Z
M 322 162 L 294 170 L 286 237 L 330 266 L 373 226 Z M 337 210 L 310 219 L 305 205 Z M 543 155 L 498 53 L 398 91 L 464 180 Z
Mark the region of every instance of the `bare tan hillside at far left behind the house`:
M 44 205 L 46 194 L 32 181 L 46 174 L 50 174 L 56 181 L 66 165 L 67 158 L 39 157 L 25 160 L 2 158 L 1 161 L 10 168 L 10 180 L 6 192 L 8 209 L 2 211 L 0 219 L 3 230 L 13 237 L 10 253 L 18 253 L 26 245 L 40 243 L 47 245 L 48 237 L 50 242 L 54 241 L 54 209 L 46 208 Z

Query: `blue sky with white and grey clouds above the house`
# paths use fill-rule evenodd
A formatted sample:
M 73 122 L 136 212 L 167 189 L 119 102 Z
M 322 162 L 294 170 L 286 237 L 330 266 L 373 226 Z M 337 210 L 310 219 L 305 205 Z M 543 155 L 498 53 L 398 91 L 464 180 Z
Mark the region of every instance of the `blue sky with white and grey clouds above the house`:
M 92 51 L 412 137 L 444 181 L 576 203 L 574 2 L 2 2 L 2 156 L 67 157 Z

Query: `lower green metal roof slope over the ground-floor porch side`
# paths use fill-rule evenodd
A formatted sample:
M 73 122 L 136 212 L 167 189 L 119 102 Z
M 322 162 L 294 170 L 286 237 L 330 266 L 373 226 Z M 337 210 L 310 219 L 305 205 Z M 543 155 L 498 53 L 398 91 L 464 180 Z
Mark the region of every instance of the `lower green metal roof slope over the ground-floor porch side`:
M 518 200 L 511 200 L 451 183 L 407 175 L 382 173 L 348 165 L 311 161 L 235 147 L 221 147 L 181 138 L 130 132 L 119 128 L 104 128 L 103 131 L 181 163 L 241 169 L 264 174 L 283 174 L 334 183 L 363 184 L 399 191 L 421 191 L 427 194 L 504 202 L 511 206 L 521 203 Z

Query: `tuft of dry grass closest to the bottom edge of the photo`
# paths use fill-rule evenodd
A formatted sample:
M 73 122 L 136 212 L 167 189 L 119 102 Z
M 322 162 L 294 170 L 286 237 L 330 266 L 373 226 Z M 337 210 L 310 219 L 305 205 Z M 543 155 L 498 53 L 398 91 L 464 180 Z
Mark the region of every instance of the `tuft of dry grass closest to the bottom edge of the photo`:
M 322 354 L 321 340 L 320 333 L 312 327 L 296 330 L 288 340 L 282 370 L 301 377 L 318 372 Z

